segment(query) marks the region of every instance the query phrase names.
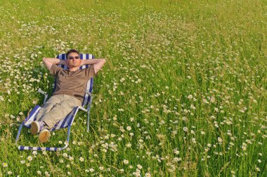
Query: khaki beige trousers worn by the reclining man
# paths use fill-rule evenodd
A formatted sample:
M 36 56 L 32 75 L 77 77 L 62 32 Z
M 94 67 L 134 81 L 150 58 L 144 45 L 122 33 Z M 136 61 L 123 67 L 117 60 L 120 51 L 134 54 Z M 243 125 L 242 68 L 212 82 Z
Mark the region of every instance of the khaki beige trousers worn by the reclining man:
M 37 113 L 37 121 L 43 121 L 49 129 L 52 129 L 56 123 L 64 119 L 74 107 L 82 105 L 81 101 L 73 96 L 56 95 L 41 107 Z

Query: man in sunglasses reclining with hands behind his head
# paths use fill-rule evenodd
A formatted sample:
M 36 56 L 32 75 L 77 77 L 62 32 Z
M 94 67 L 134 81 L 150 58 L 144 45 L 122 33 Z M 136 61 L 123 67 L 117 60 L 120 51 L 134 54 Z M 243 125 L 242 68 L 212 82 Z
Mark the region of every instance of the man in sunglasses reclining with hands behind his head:
M 79 51 L 74 49 L 67 51 L 66 55 L 67 60 L 43 58 L 46 68 L 56 77 L 56 90 L 39 110 L 36 121 L 31 124 L 31 133 L 39 133 L 41 143 L 45 143 L 50 137 L 49 129 L 60 119 L 64 119 L 74 107 L 82 105 L 87 81 L 105 64 L 105 59 L 81 60 Z M 64 70 L 56 64 L 67 65 L 69 69 Z M 91 66 L 79 70 L 82 65 Z

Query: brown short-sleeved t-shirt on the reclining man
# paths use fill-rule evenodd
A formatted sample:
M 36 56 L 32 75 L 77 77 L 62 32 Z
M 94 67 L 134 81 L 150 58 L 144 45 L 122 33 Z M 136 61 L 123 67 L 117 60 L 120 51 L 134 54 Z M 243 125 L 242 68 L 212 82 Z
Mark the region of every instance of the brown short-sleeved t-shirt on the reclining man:
M 84 100 L 87 82 L 96 75 L 93 65 L 71 72 L 53 64 L 50 73 L 56 77 L 56 90 L 53 95 L 66 94 Z

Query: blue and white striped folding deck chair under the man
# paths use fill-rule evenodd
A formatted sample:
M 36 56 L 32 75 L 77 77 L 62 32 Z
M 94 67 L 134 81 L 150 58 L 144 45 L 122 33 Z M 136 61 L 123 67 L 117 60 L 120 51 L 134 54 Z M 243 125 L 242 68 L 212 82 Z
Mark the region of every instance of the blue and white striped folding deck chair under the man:
M 58 55 L 57 58 L 61 60 L 67 60 L 65 53 Z M 93 58 L 94 58 L 93 55 L 88 54 L 88 53 L 80 54 L 80 59 L 82 60 L 89 60 Z M 67 70 L 67 66 L 65 65 L 58 65 L 58 66 L 63 67 L 65 70 Z M 86 68 L 86 67 L 89 67 L 89 65 L 83 65 L 79 67 L 79 69 L 82 70 L 83 68 Z M 53 91 L 55 91 L 55 89 L 56 89 L 56 79 L 55 79 L 55 86 L 54 86 Z M 36 115 L 41 109 L 41 106 L 39 105 L 36 105 L 32 109 L 32 111 L 29 113 L 29 115 L 26 117 L 26 119 L 22 122 L 22 124 L 20 124 L 17 137 L 15 138 L 15 145 L 18 147 L 19 150 L 48 150 L 48 151 L 64 150 L 69 145 L 70 128 L 72 126 L 72 122 L 74 121 L 75 115 L 77 114 L 79 110 L 83 110 L 87 112 L 87 132 L 89 132 L 90 109 L 91 109 L 91 103 L 93 99 L 91 96 L 92 91 L 93 91 L 93 78 L 89 79 L 89 81 L 87 82 L 86 92 L 84 93 L 84 100 L 83 100 L 82 106 L 74 107 L 72 112 L 70 112 L 70 114 L 67 114 L 65 119 L 60 120 L 60 122 L 58 122 L 53 127 L 53 129 L 50 130 L 50 131 L 56 131 L 58 129 L 67 128 L 67 140 L 65 141 L 64 147 L 30 147 L 30 146 L 18 145 L 18 139 L 20 137 L 20 131 L 22 130 L 22 126 L 25 126 L 28 129 L 30 129 L 31 123 L 36 119 Z M 41 91 L 40 89 L 38 90 L 38 92 L 41 94 L 44 94 L 44 103 L 46 103 L 46 99 L 48 95 L 44 91 Z

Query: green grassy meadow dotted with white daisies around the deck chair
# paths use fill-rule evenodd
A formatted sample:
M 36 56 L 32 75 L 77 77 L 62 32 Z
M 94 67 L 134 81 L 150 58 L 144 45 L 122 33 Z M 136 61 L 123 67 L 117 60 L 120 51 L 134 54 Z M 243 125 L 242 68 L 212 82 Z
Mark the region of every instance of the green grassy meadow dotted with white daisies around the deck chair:
M 267 176 L 267 1 L 0 1 L 0 176 Z M 18 126 L 68 49 L 105 58 L 60 152 Z M 46 144 L 26 128 L 20 145 Z

